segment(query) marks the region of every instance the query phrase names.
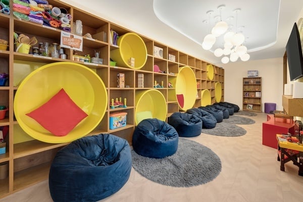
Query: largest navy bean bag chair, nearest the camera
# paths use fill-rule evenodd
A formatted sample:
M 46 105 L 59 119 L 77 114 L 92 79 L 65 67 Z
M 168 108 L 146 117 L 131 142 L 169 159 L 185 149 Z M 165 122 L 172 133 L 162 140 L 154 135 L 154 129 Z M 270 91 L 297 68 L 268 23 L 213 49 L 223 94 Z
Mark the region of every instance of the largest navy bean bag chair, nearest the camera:
M 125 139 L 99 134 L 77 139 L 56 154 L 49 170 L 49 192 L 58 201 L 97 201 L 127 182 L 131 154 Z

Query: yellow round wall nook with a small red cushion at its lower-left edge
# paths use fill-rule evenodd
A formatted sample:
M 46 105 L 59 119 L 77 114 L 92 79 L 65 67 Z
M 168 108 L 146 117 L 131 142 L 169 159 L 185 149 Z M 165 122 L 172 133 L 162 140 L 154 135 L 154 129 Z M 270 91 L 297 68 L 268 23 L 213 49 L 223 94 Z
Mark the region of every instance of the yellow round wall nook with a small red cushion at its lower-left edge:
M 197 94 L 197 82 L 190 67 L 181 67 L 176 79 L 176 96 L 179 107 L 186 111 L 193 107 Z

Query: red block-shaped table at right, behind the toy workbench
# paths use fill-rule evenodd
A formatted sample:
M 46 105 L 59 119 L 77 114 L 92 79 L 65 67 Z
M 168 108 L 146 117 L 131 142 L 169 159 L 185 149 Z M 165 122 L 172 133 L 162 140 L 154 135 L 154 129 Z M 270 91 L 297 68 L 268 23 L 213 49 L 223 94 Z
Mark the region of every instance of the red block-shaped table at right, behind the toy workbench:
M 274 118 L 273 114 L 267 115 L 267 121 L 262 124 L 262 144 L 272 148 L 278 148 L 276 134 L 294 133 L 294 122 L 287 119 Z

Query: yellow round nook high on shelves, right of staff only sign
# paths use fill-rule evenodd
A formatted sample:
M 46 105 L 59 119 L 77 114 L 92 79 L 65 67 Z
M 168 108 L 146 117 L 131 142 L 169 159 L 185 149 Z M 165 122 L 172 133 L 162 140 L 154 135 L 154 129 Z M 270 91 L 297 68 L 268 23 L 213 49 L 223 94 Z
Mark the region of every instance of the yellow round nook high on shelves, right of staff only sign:
M 118 38 L 119 48 L 111 51 L 111 59 L 117 62 L 117 66 L 141 69 L 147 60 L 147 49 L 142 38 L 135 33 L 126 33 Z M 134 66 L 129 64 L 130 58 L 134 58 Z

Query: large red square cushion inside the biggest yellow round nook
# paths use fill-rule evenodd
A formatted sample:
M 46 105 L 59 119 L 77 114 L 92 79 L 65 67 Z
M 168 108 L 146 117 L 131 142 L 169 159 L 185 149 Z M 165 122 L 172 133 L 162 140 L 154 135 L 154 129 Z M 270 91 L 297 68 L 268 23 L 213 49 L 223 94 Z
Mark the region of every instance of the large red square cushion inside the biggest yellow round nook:
M 62 88 L 44 105 L 26 114 L 56 136 L 65 136 L 88 115 Z

